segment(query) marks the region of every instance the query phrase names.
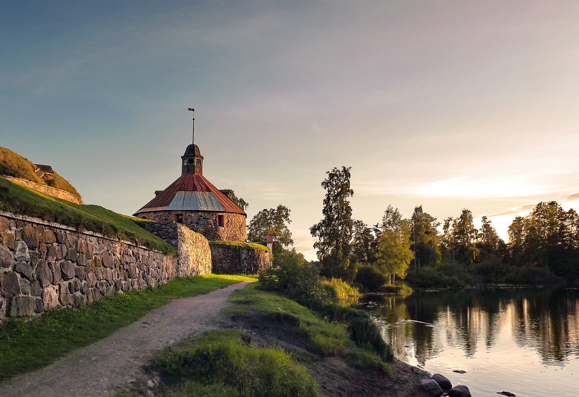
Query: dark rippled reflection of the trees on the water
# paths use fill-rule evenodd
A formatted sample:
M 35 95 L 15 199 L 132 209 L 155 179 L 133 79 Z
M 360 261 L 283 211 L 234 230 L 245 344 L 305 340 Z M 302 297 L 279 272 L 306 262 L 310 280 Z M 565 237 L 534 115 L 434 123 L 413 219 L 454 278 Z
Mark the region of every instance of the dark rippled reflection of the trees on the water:
M 385 324 L 413 319 L 435 327 L 401 322 L 385 330 L 400 358 L 413 344 L 415 358 L 424 364 L 444 347 L 459 347 L 464 355 L 477 352 L 479 342 L 490 349 L 501 332 L 510 333 L 521 347 L 540 353 L 543 361 L 560 362 L 579 355 L 579 293 L 565 289 L 483 289 L 415 293 L 384 297 L 375 307 Z

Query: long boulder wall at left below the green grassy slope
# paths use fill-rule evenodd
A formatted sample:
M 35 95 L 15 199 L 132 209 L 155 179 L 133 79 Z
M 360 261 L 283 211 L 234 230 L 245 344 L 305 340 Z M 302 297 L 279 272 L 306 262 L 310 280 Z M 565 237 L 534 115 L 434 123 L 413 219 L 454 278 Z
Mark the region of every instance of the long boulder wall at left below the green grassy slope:
M 188 237 L 189 238 L 189 237 Z M 37 218 L 0 213 L 0 322 L 164 284 L 178 258 Z

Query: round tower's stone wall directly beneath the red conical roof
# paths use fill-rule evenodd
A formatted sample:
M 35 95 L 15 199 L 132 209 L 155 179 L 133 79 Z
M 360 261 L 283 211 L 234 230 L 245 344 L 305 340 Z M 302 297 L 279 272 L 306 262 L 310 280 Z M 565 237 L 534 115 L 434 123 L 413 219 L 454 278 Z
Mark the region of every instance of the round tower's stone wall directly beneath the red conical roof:
M 207 240 L 245 241 L 245 216 L 215 211 L 151 211 L 140 214 L 141 218 L 155 220 L 168 225 L 175 223 L 175 214 L 183 216 L 183 223 L 189 229 L 203 234 Z M 223 215 L 224 227 L 218 226 L 218 215 Z

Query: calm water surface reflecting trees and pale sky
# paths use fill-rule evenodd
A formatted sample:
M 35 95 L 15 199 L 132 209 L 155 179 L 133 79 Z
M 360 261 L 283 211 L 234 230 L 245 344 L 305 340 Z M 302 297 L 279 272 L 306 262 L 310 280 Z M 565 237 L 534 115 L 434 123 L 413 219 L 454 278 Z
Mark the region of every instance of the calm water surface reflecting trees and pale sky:
M 579 396 L 577 289 L 369 295 L 360 308 L 383 325 L 398 358 L 467 385 L 474 397 Z

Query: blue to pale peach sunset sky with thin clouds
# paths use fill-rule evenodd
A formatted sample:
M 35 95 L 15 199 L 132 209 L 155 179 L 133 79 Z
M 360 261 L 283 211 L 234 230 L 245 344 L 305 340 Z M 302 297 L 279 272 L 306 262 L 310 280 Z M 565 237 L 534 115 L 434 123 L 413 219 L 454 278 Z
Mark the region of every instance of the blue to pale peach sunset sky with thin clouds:
M 131 215 L 181 172 L 291 209 L 351 168 L 353 216 L 468 208 L 500 236 L 538 201 L 579 208 L 577 1 L 9 1 L 0 146 Z

